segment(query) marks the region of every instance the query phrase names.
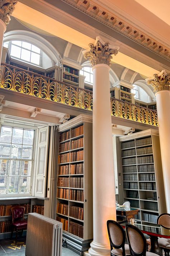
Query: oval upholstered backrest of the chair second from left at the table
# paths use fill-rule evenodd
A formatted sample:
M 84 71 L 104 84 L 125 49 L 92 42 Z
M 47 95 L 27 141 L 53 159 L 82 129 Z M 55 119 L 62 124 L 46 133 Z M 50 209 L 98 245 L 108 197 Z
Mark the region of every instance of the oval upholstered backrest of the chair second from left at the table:
M 131 255 L 146 256 L 147 243 L 142 231 L 134 225 L 126 224 L 126 234 Z

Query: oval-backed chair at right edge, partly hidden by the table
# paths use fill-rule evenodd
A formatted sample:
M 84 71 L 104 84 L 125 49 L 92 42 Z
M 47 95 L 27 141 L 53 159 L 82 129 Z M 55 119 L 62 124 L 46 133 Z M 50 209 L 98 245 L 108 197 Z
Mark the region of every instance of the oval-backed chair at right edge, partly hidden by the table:
M 157 218 L 157 224 L 161 225 L 165 229 L 170 229 L 170 214 L 164 213 L 159 215 Z M 147 239 L 147 243 L 150 246 L 150 238 Z M 169 255 L 170 252 L 170 239 L 169 238 L 158 238 L 158 244 L 165 252 L 165 256 Z

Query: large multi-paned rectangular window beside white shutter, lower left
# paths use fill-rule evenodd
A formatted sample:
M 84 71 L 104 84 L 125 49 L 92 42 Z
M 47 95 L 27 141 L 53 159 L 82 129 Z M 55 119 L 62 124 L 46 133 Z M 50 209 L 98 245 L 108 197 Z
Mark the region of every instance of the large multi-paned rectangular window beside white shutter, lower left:
M 1 126 L 0 194 L 30 194 L 35 130 Z

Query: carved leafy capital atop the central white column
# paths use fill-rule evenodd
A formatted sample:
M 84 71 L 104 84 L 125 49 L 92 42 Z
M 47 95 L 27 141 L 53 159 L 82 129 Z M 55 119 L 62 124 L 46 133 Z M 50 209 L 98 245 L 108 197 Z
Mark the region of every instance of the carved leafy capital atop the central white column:
M 118 53 L 119 46 L 109 46 L 109 42 L 104 42 L 99 36 L 96 37 L 94 44 L 89 44 L 89 49 L 82 53 L 85 59 L 89 58 L 91 66 L 96 64 L 107 64 L 111 66 L 112 55 Z

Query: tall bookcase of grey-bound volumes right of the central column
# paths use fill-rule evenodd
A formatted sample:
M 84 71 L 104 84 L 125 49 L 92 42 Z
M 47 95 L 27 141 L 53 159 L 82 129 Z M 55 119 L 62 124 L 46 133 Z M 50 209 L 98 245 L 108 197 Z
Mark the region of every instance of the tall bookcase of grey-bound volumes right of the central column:
M 166 212 L 159 133 L 149 129 L 119 137 L 123 200 L 138 208 L 141 224 Z

